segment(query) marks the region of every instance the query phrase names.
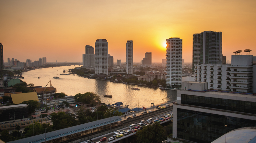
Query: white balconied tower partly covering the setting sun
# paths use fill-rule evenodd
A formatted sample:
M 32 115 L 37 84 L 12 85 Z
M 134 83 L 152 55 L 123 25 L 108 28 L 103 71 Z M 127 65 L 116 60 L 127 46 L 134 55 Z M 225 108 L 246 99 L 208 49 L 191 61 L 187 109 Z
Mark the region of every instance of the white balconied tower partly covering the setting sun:
M 166 39 L 166 84 L 181 85 L 182 80 L 182 39 Z

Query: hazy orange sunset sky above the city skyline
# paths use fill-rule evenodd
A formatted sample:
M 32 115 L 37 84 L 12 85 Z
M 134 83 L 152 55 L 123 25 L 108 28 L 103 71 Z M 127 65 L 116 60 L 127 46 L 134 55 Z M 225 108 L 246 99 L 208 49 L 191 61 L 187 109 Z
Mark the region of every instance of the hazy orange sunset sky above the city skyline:
M 0 0 L 4 62 L 46 57 L 47 62 L 82 62 L 85 45 L 107 39 L 114 62 L 126 62 L 133 40 L 134 62 L 152 52 L 165 59 L 166 39 L 183 39 L 182 59 L 192 62 L 192 34 L 222 32 L 222 54 L 256 55 L 255 0 Z M 240 54 L 246 54 L 241 52 Z

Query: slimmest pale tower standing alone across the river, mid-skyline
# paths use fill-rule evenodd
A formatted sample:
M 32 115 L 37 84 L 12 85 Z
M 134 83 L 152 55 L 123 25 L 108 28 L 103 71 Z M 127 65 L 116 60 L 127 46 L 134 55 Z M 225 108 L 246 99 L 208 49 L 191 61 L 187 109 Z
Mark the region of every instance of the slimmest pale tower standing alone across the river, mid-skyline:
M 128 40 L 126 42 L 126 73 L 133 74 L 133 41 L 132 40 Z

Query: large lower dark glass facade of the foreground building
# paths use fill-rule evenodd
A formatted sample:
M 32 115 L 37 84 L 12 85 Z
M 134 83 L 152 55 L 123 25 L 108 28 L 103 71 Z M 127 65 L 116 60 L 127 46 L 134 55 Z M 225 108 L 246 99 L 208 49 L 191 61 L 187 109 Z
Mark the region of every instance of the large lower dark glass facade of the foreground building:
M 227 132 L 256 126 L 255 120 L 177 109 L 177 137 L 198 143 L 210 143 Z

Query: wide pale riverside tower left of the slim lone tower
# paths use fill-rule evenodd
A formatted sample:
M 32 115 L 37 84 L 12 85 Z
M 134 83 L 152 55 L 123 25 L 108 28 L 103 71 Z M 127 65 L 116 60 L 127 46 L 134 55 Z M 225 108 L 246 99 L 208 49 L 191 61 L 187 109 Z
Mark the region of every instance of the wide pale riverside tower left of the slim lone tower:
M 95 73 L 109 74 L 108 41 L 106 39 L 97 39 L 95 42 Z

